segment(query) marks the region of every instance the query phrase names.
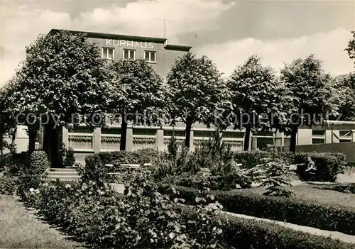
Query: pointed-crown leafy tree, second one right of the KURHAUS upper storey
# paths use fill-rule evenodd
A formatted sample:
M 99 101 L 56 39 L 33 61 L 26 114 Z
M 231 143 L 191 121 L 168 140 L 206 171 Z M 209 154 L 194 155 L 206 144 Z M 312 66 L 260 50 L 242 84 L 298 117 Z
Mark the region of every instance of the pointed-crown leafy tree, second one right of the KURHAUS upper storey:
M 251 131 L 271 128 L 271 114 L 278 112 L 278 85 L 271 67 L 252 55 L 231 74 L 227 86 L 231 96 L 234 128 L 245 128 L 244 150 L 249 150 Z

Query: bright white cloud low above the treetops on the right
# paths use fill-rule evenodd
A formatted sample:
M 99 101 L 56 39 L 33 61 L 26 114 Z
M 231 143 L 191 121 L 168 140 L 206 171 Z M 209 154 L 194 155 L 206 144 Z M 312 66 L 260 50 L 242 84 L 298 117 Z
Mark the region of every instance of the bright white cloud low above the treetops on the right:
M 284 63 L 298 57 L 314 53 L 323 61 L 324 70 L 332 74 L 345 74 L 354 70 L 354 61 L 344 51 L 351 38 L 350 31 L 339 28 L 327 33 L 315 33 L 300 38 L 256 40 L 246 38 L 214 43 L 195 48 L 197 55 L 207 55 L 226 75 L 231 74 L 236 65 L 243 64 L 255 54 L 263 58 L 264 65 L 280 70 Z

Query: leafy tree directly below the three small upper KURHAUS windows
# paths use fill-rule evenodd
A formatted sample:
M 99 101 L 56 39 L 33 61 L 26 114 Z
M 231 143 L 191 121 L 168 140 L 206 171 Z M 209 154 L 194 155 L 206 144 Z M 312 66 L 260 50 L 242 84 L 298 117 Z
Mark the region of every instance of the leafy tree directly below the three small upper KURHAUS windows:
M 163 114 L 163 79 L 145 60 L 119 60 L 109 65 L 109 111 L 121 118 L 120 150 L 126 150 L 127 126 L 160 125 Z M 118 116 L 116 116 L 118 115 Z

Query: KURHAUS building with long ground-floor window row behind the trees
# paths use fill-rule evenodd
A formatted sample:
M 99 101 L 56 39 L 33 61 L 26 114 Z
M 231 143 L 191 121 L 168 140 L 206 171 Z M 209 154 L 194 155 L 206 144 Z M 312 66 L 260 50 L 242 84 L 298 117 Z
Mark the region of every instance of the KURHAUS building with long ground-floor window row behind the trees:
M 50 33 L 58 32 L 53 29 Z M 113 35 L 107 33 L 90 33 L 71 31 L 72 33 L 87 33 L 87 38 L 97 44 L 104 60 L 143 59 L 151 64 L 155 72 L 166 77 L 175 59 L 190 50 L 190 46 L 168 45 L 165 38 L 149 38 L 132 35 Z M 28 136 L 25 127 L 18 127 L 16 134 L 17 152 L 26 151 Z M 190 135 L 190 149 L 199 145 L 202 140 L 212 136 L 214 128 L 207 128 L 201 124 L 192 126 Z M 185 139 L 185 125 L 178 123 L 171 126 L 129 126 L 126 136 L 126 150 L 154 148 L 165 150 L 168 141 L 175 135 L 180 143 Z M 231 150 L 242 150 L 244 131 L 227 128 L 223 132 L 223 140 L 231 146 Z M 84 125 L 72 130 L 62 129 L 60 141 L 75 150 L 77 162 L 84 162 L 84 157 L 102 151 L 119 150 L 121 141 L 120 126 L 110 125 L 108 128 L 88 128 Z M 266 149 L 268 145 L 276 146 L 280 150 L 288 151 L 290 137 L 282 133 L 252 133 L 249 144 L 250 150 Z M 41 142 L 38 140 L 38 147 Z M 355 162 L 355 122 L 329 121 L 329 126 L 314 128 L 301 127 L 297 133 L 297 151 L 325 152 L 337 151 L 345 153 L 348 162 Z

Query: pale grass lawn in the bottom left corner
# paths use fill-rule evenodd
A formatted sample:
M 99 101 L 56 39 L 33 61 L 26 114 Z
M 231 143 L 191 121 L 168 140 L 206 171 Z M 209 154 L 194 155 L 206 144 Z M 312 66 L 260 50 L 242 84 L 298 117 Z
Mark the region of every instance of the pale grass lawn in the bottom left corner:
M 0 195 L 0 248 L 84 248 L 37 218 L 17 197 Z

